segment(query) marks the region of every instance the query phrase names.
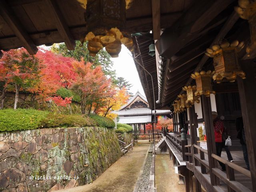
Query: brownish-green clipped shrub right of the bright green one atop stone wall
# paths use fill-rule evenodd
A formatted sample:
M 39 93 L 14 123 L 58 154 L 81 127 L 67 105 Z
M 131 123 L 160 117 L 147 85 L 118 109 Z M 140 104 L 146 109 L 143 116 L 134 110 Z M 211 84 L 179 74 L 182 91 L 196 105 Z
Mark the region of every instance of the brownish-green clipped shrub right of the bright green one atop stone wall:
M 43 128 L 54 127 L 90 127 L 96 126 L 94 120 L 84 118 L 81 115 L 63 115 L 63 114 L 49 114 L 47 118 L 41 121 Z

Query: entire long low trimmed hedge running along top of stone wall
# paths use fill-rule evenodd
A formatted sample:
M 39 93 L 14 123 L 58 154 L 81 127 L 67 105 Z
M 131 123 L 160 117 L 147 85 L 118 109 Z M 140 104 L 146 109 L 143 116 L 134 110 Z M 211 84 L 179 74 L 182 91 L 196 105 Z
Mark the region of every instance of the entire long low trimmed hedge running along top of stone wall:
M 98 115 L 83 117 L 82 115 L 55 114 L 35 109 L 0 110 L 0 132 L 89 126 L 114 128 L 115 123 L 110 118 Z

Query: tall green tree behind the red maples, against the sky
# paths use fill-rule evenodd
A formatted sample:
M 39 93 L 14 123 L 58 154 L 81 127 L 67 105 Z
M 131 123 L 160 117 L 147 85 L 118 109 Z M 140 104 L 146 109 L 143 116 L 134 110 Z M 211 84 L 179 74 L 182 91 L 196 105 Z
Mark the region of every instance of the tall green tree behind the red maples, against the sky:
M 62 54 L 65 57 L 72 57 L 78 61 L 81 61 L 83 58 L 84 63 L 92 63 L 92 67 L 96 68 L 97 66 L 102 67 L 102 71 L 105 75 L 110 76 L 113 82 L 116 82 L 116 71 L 112 70 L 113 62 L 111 61 L 111 56 L 102 49 L 96 54 L 96 56 L 90 56 L 89 50 L 87 48 L 87 42 L 80 46 L 80 41 L 76 41 L 75 50 L 68 50 L 64 43 L 54 44 L 52 46 L 52 51 L 54 53 Z

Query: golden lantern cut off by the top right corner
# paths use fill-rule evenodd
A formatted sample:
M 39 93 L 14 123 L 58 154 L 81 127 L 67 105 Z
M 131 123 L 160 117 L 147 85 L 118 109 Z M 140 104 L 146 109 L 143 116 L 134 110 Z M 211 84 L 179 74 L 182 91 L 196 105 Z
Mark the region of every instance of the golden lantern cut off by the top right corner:
M 250 0 L 238 0 L 235 11 L 240 18 L 248 20 L 250 24 L 251 44 L 246 48 L 247 56 L 256 48 L 256 2 Z

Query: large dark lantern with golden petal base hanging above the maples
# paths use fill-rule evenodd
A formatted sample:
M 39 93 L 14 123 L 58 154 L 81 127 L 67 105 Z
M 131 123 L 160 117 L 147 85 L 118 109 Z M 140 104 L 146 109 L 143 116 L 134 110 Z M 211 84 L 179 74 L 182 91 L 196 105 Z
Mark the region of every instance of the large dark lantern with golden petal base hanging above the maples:
M 134 0 L 78 0 L 86 9 L 88 34 L 81 39 L 81 45 L 88 41 L 90 55 L 95 56 L 103 47 L 111 57 L 118 57 L 121 45 L 134 50 L 132 37 L 125 29 L 126 9 Z M 122 32 L 121 32 L 121 31 Z

